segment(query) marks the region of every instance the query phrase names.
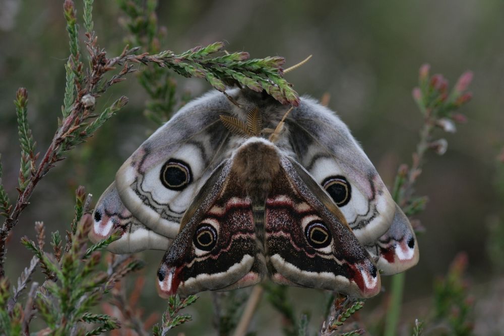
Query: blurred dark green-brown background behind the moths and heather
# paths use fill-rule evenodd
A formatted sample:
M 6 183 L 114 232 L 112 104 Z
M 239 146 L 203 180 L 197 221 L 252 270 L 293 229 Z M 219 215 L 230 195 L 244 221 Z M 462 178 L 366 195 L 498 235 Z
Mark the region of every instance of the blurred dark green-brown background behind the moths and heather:
M 80 9 L 79 2 L 77 6 Z M 426 210 L 417 216 L 426 232 L 418 237 L 420 263 L 406 276 L 403 320 L 412 323 L 427 313 L 433 279 L 446 273 L 459 251 L 466 251 L 471 291 L 477 295 L 476 314 L 481 317 L 475 331 L 499 334 L 504 330 L 504 307 L 501 303 L 500 308 L 493 307 L 490 300 L 504 300 L 504 277 L 488 254 L 493 234 L 489 223 L 502 225 L 498 216 L 503 214 L 503 198 L 496 188 L 496 156 L 504 145 L 504 2 L 190 0 L 163 1 L 157 13 L 160 25 L 167 28 L 162 49 L 182 52 L 222 40 L 227 50 L 248 51 L 251 57 L 284 56 L 286 67 L 313 54 L 286 78 L 301 95 L 319 99 L 330 95 L 329 107 L 348 124 L 389 186 L 398 165 L 411 162 L 418 141 L 422 117 L 411 90 L 419 66 L 430 63 L 433 73 L 443 73 L 452 84 L 463 71 L 474 71 L 473 100 L 460 111 L 468 122 L 458 125 L 455 134 L 438 133 L 447 138 L 448 152 L 441 157 L 430 153 L 418 181 L 417 194 L 429 197 Z M 78 15 L 81 18 L 82 10 Z M 94 29 L 109 56 L 124 47 L 121 16 L 115 2 L 95 3 Z M 13 200 L 20 160 L 12 103 L 16 90 L 28 89 L 29 122 L 38 150 L 44 151 L 61 113 L 67 57 L 62 2 L 0 0 L 0 152 L 4 185 Z M 34 235 L 34 221 L 44 221 L 51 230 L 68 227 L 76 187 L 86 186 L 96 201 L 121 163 L 155 129 L 142 114 L 147 95 L 134 77 L 99 100 L 101 107 L 125 95 L 130 99 L 127 107 L 69 153 L 36 189 L 8 244 L 11 278 L 31 258 L 18 242 L 25 234 Z M 197 97 L 210 90 L 204 80 L 174 78 L 180 94 L 188 91 Z M 165 308 L 154 290 L 162 254 L 142 256 L 148 262 L 142 297 L 148 312 Z M 389 279 L 383 282 L 387 289 Z M 290 293 L 297 300 L 298 313 L 312 311 L 311 328 L 316 330 L 322 322 L 323 293 L 298 289 Z M 364 324 L 378 318 L 380 312 L 372 307 L 384 299 L 379 295 L 368 301 L 362 312 Z M 180 330 L 213 334 L 208 327 L 212 315 L 206 303 L 210 301 L 211 296 L 203 294 L 189 309 L 195 322 Z M 255 320 L 255 327 L 271 330 L 265 334 L 280 330 L 278 316 L 269 313 L 272 308 L 263 302 L 260 309 L 262 317 Z M 486 321 L 491 314 L 500 319 Z

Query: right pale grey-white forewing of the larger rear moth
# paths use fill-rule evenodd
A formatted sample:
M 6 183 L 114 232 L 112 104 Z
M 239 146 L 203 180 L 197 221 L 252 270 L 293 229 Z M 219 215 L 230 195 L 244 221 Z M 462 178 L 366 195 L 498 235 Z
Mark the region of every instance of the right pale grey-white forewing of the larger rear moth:
M 355 197 L 341 211 L 357 238 L 367 244 L 387 232 L 395 203 L 348 127 L 310 99 L 301 101 L 287 123 L 296 158 L 317 183 L 343 176 L 352 185 Z

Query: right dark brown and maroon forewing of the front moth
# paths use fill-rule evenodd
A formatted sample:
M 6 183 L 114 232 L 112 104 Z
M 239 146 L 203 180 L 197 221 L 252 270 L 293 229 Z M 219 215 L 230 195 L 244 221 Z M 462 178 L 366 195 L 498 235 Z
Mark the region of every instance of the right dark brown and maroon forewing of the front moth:
M 271 278 L 357 297 L 376 295 L 380 275 L 367 251 L 342 223 L 344 217 L 336 211 L 338 218 L 324 206 L 318 199 L 324 193 L 313 192 L 321 187 L 308 174 L 299 175 L 297 163 L 286 156 L 280 162 L 281 170 L 266 202 Z

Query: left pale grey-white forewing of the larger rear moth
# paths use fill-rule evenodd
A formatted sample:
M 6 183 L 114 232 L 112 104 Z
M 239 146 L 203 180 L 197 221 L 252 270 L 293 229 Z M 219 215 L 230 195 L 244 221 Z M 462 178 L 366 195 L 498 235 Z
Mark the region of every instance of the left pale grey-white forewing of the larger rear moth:
M 229 132 L 220 93 L 186 104 L 124 162 L 115 182 L 124 205 L 159 234 L 174 238 L 202 181 L 225 158 Z

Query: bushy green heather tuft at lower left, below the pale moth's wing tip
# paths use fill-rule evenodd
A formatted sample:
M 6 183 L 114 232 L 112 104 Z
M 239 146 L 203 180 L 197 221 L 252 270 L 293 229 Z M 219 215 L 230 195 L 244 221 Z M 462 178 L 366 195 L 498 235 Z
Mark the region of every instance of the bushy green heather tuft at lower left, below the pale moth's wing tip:
M 75 232 L 68 232 L 65 249 L 61 248 L 61 237 L 52 234 L 53 253 L 43 251 L 43 242 L 39 234 L 36 243 L 27 237 L 22 243 L 39 259 L 47 280 L 38 290 L 35 306 L 39 315 L 54 335 L 67 335 L 73 329 L 85 330 L 82 322 L 100 324 L 99 327 L 86 333 L 100 334 L 119 327 L 119 323 L 107 315 L 91 314 L 96 306 L 114 284 L 130 272 L 142 268 L 136 260 L 127 259 L 115 267 L 111 274 L 100 270 L 101 253 L 114 238 L 107 238 L 88 247 L 88 232 L 92 225 L 90 215 L 82 216 L 82 195 L 77 191 L 76 218 L 82 217 Z M 39 229 L 40 230 L 40 229 Z

